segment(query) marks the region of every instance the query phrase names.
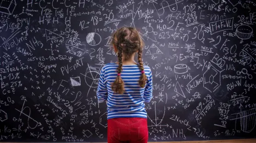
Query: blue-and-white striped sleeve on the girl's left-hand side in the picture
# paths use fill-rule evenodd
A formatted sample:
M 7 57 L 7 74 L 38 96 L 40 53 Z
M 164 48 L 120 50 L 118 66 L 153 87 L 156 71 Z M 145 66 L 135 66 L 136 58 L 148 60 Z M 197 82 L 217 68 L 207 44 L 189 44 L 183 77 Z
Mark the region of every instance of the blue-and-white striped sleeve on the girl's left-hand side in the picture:
M 105 81 L 105 77 L 104 77 L 104 72 L 103 69 L 101 70 L 101 74 L 99 77 L 99 83 L 98 83 L 98 89 L 97 89 L 97 98 L 98 98 L 98 103 L 102 103 L 105 100 L 107 100 L 108 98 L 108 88 L 107 88 L 107 84 Z

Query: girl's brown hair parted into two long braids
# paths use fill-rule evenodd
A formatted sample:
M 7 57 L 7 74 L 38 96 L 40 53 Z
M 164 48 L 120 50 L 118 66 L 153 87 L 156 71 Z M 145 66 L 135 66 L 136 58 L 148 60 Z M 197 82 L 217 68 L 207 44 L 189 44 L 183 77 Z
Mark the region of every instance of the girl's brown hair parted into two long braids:
M 121 79 L 120 76 L 123 70 L 123 58 L 129 59 L 129 57 L 136 51 L 138 51 L 138 66 L 141 70 L 141 76 L 140 80 L 138 80 L 138 84 L 140 85 L 140 87 L 144 87 L 147 82 L 147 76 L 144 73 L 144 67 L 142 62 L 143 41 L 138 31 L 132 27 L 122 27 L 114 33 L 112 44 L 118 49 L 119 64 L 117 69 L 118 76 L 112 84 L 112 90 L 119 94 L 124 93 L 124 81 Z M 125 55 L 125 57 L 123 55 Z

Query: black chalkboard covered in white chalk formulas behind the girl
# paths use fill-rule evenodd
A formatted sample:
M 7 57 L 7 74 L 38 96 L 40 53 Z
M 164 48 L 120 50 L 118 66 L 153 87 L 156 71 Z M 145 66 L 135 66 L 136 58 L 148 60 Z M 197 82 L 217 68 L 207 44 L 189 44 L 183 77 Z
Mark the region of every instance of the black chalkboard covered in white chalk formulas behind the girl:
M 106 142 L 99 71 L 136 27 L 149 141 L 255 138 L 256 2 L 1 0 L 0 141 Z

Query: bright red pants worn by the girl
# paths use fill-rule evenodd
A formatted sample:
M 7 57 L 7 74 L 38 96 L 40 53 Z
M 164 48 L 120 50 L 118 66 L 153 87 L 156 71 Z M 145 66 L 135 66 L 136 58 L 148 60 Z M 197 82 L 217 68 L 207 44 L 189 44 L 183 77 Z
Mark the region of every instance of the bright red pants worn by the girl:
M 108 120 L 108 143 L 147 141 L 146 118 L 111 118 Z

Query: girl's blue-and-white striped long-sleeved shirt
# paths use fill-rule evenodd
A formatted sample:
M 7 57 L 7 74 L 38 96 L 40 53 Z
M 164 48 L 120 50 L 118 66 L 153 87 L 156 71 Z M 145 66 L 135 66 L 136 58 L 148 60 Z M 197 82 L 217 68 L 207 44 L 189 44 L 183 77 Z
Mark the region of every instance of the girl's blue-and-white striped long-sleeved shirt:
M 141 70 L 138 65 L 123 65 L 121 78 L 124 81 L 125 91 L 123 94 L 114 93 L 112 83 L 118 75 L 118 64 L 109 63 L 101 69 L 97 98 L 98 102 L 107 100 L 108 119 L 124 117 L 147 118 L 145 104 L 152 99 L 152 73 L 151 69 L 144 65 L 144 72 L 147 76 L 145 87 L 140 87 L 138 80 L 141 76 Z

